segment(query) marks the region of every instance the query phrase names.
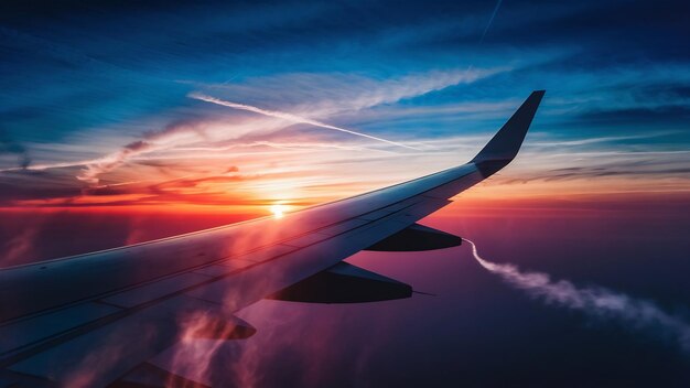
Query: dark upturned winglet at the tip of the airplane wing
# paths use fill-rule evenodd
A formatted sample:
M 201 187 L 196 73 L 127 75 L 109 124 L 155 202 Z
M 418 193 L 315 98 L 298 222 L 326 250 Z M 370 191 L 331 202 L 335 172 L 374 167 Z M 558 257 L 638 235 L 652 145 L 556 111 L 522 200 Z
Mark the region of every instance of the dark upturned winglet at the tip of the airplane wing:
M 532 91 L 470 163 L 503 162 L 504 165 L 508 164 L 517 155 L 545 93 L 546 90 Z

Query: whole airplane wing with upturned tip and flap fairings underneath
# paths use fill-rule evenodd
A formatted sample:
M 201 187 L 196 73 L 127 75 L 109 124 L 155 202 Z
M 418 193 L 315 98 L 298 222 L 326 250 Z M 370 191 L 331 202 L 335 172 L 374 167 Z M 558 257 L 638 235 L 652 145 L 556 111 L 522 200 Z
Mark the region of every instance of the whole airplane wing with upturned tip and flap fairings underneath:
M 155 386 L 166 371 L 147 360 L 183 338 L 251 335 L 233 313 L 261 299 L 410 297 L 408 284 L 342 260 L 460 245 L 416 222 L 508 164 L 543 94 L 533 91 L 460 166 L 281 218 L 0 269 L 0 387 Z

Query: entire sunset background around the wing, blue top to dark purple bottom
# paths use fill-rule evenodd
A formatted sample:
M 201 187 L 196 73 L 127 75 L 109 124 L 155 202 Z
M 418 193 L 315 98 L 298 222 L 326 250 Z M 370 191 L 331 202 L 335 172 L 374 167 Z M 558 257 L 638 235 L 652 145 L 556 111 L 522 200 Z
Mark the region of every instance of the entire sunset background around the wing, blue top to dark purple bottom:
M 220 364 L 205 378 L 687 386 L 689 15 L 680 0 L 2 1 L 0 267 L 465 163 L 546 89 L 516 160 L 421 222 L 486 262 L 470 244 L 359 252 L 427 294 L 260 301 L 239 312 L 254 337 L 201 347 Z

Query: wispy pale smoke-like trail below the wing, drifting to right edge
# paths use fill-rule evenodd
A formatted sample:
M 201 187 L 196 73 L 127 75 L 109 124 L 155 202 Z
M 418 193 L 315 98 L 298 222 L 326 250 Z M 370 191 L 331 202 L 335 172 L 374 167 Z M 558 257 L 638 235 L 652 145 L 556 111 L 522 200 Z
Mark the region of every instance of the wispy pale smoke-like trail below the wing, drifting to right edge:
M 662 311 L 651 301 L 639 300 L 601 287 L 576 287 L 568 280 L 551 280 L 548 273 L 521 271 L 517 266 L 483 259 L 472 245 L 472 255 L 482 267 L 508 284 L 547 304 L 579 310 L 597 319 L 617 320 L 637 330 L 660 330 L 690 354 L 690 324 Z

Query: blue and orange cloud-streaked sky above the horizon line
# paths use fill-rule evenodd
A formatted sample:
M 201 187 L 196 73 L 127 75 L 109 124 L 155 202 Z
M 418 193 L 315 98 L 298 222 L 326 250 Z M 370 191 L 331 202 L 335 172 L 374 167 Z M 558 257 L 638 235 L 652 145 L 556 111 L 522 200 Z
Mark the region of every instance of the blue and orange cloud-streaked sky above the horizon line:
M 1 7 L 4 211 L 346 197 L 464 163 L 535 89 L 522 152 L 468 196 L 690 190 L 680 1 Z

